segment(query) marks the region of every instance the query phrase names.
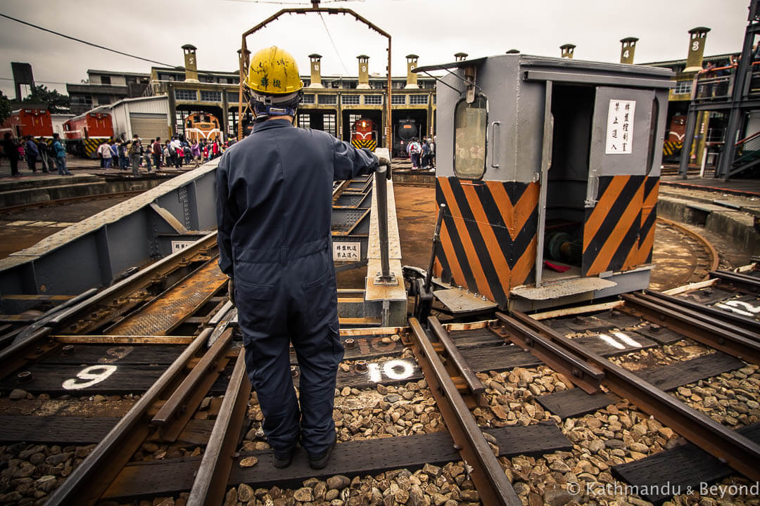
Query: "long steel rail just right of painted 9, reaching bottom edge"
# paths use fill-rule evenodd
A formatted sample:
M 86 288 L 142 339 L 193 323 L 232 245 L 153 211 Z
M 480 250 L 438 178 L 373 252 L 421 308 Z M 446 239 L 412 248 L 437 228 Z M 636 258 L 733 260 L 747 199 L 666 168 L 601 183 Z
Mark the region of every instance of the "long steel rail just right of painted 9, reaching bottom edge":
M 53 492 L 46 504 L 59 506 L 62 504 L 90 505 L 95 504 L 122 467 L 138 451 L 148 435 L 150 426 L 147 423 L 147 413 L 161 395 L 170 388 L 179 375 L 184 372 L 189 361 L 198 351 L 202 350 L 212 329 L 207 328 L 192 344 L 182 351 L 182 354 L 166 369 L 159 379 L 141 396 L 137 403 L 122 416 L 93 451 L 82 460 L 65 482 Z

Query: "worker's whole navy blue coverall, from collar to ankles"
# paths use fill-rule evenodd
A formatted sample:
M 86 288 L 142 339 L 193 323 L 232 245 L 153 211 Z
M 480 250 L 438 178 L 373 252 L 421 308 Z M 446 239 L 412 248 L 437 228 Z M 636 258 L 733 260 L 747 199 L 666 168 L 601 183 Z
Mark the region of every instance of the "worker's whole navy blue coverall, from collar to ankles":
M 368 174 L 368 150 L 284 119 L 256 124 L 217 168 L 222 272 L 235 279 L 245 365 L 275 451 L 301 438 L 312 455 L 333 443 L 337 366 L 343 359 L 331 247 L 333 181 Z M 301 370 L 299 400 L 289 341 Z

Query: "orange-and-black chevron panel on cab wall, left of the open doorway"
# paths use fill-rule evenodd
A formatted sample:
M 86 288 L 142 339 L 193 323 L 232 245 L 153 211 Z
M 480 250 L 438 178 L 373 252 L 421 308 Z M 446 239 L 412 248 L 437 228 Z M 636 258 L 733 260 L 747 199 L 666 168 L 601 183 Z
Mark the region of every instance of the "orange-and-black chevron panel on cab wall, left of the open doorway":
M 538 194 L 537 183 L 437 178 L 446 210 L 434 274 L 505 306 L 534 273 Z

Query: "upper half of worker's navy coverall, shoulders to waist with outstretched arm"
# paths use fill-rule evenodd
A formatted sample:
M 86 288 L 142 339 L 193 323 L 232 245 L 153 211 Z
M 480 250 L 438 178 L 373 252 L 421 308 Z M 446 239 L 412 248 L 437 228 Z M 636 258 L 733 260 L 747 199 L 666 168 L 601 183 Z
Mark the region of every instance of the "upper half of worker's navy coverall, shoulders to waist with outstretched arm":
M 287 262 L 326 248 L 333 181 L 374 166 L 369 152 L 325 132 L 280 119 L 257 124 L 217 169 L 217 206 L 226 206 L 220 234 L 229 234 L 234 259 L 243 262 Z M 232 260 L 220 260 L 224 272 Z

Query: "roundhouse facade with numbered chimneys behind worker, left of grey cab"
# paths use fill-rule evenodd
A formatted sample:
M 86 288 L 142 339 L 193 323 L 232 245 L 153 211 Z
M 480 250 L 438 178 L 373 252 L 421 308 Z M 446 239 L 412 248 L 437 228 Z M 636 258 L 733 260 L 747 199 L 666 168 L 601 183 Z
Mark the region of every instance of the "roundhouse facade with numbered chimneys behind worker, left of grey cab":
M 173 134 L 185 133 L 189 115 L 205 112 L 220 121 L 225 140 L 235 137 L 240 122 L 238 72 L 198 71 L 195 46 L 188 44 L 182 46 L 182 50 L 185 68 L 151 68 L 145 94 L 166 96 L 168 130 Z M 419 125 L 420 135 L 432 135 L 435 79 L 413 74 L 417 58 L 417 55 L 407 55 L 407 75 L 391 78 L 391 121 L 395 125 L 402 119 L 412 119 Z M 357 119 L 369 119 L 377 125 L 378 146 L 386 146 L 387 77 L 370 71 L 366 55 L 357 56 L 355 77 L 322 76 L 321 55 L 309 55 L 309 60 L 310 72 L 301 76 L 304 95 L 298 126 L 326 130 L 350 140 L 352 124 Z

